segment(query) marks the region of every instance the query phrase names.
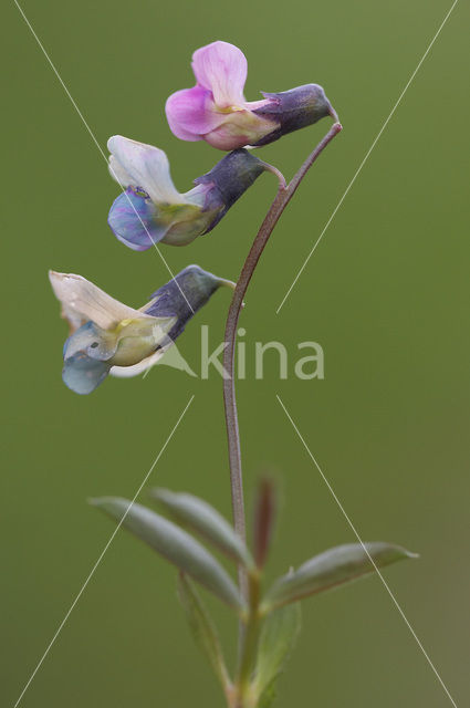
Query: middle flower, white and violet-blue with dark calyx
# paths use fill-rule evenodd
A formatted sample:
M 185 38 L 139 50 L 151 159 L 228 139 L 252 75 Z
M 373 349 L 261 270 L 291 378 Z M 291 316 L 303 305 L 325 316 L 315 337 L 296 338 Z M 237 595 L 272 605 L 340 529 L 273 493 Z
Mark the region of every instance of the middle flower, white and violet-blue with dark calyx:
M 236 150 L 180 195 L 168 158 L 158 147 L 121 135 L 109 138 L 107 147 L 109 171 L 126 188 L 111 207 L 108 225 L 119 241 L 136 251 L 159 241 L 186 246 L 207 233 L 267 169 L 247 150 Z

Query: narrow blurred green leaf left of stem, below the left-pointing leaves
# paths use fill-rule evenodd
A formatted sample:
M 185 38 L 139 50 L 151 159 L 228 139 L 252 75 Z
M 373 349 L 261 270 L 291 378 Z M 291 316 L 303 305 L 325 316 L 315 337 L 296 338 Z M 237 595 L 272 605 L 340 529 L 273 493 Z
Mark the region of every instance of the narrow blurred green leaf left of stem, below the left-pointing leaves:
M 219 637 L 199 594 L 185 573 L 178 577 L 178 596 L 185 610 L 189 627 L 196 644 L 206 655 L 213 673 L 219 678 L 223 690 L 230 688 L 230 678 L 223 660 Z

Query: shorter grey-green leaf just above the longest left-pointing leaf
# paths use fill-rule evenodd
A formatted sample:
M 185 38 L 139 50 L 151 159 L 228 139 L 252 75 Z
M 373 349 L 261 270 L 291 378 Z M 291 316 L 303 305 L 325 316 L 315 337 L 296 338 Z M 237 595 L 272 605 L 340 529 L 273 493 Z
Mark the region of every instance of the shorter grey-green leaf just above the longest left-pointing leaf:
M 229 558 L 247 568 L 253 568 L 253 559 L 233 527 L 206 501 L 192 494 L 176 493 L 168 489 L 153 489 L 150 496 L 161 503 L 178 523 L 199 533 Z

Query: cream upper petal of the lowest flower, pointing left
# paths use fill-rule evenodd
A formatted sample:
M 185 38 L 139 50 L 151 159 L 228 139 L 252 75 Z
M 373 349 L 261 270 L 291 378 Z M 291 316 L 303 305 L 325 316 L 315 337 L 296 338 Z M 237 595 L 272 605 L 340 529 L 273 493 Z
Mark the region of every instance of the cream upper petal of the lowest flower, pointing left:
M 74 273 L 49 271 L 52 290 L 63 306 L 64 315 L 71 320 L 92 320 L 103 330 L 115 326 L 122 320 L 148 316 L 128 308 L 108 295 L 104 290 Z

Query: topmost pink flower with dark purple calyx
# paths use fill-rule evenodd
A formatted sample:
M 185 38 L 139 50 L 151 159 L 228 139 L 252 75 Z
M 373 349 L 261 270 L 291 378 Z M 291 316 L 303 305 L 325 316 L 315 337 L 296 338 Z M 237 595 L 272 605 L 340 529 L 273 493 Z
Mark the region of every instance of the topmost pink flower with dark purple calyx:
M 262 93 L 247 102 L 247 59 L 228 42 L 212 42 L 192 54 L 196 86 L 171 94 L 166 114 L 182 140 L 206 140 L 221 150 L 267 145 L 282 135 L 336 113 L 322 86 L 306 84 L 282 93 Z

